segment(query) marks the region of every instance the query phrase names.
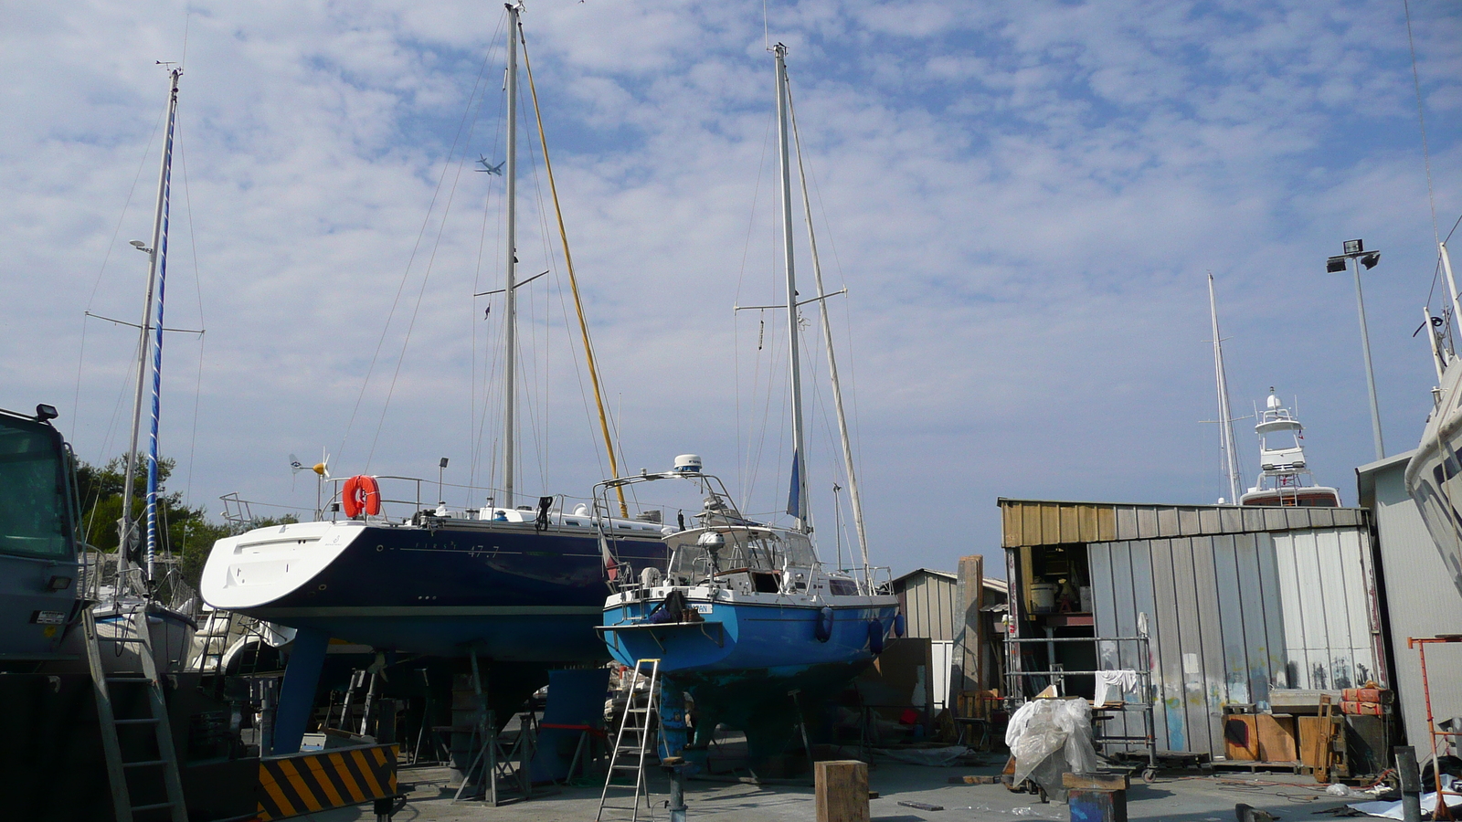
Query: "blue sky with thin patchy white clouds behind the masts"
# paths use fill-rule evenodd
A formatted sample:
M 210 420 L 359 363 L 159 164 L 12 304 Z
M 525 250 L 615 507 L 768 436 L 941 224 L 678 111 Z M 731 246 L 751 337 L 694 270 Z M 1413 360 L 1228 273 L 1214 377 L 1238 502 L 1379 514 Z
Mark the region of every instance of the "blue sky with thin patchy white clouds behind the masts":
M 785 303 L 782 42 L 826 291 L 846 290 L 825 303 L 876 565 L 984 553 L 999 573 L 997 497 L 1227 496 L 1209 272 L 1234 417 L 1270 386 L 1297 401 L 1317 478 L 1354 505 L 1376 453 L 1354 278 L 1325 259 L 1382 250 L 1366 319 L 1401 453 L 1436 383 L 1414 335 L 1446 304 L 1436 241 L 1462 216 L 1462 9 L 1409 13 L 1415 64 L 1395 0 L 529 0 L 621 472 L 699 453 L 746 510 L 785 505 L 787 316 L 734 310 Z M 151 237 L 156 61 L 177 61 L 171 489 L 308 515 L 289 456 L 329 453 L 335 475 L 425 478 L 430 502 L 442 456 L 453 506 L 501 493 L 465 487 L 503 474 L 503 297 L 474 295 L 506 260 L 503 180 L 474 168 L 504 157 L 501 4 L 12 3 L 0 23 L 0 407 L 57 405 L 82 459 L 126 450 L 136 332 L 86 313 L 140 316 L 129 241 Z M 548 275 L 518 291 L 518 490 L 573 503 L 610 468 L 526 88 L 520 111 L 519 279 Z M 830 559 L 848 483 L 801 314 Z

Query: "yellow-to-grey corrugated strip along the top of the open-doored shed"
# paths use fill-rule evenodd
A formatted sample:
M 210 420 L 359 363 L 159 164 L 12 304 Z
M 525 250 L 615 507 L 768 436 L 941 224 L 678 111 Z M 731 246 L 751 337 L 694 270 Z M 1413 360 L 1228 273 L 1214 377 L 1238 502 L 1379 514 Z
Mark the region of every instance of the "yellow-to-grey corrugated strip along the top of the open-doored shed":
M 1000 497 L 1001 546 L 1061 546 L 1366 525 L 1361 508 L 1259 508 L 1012 500 Z

